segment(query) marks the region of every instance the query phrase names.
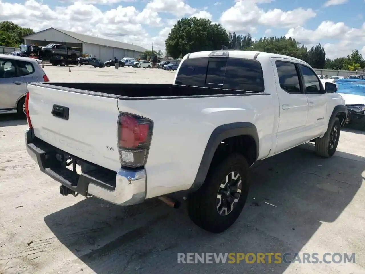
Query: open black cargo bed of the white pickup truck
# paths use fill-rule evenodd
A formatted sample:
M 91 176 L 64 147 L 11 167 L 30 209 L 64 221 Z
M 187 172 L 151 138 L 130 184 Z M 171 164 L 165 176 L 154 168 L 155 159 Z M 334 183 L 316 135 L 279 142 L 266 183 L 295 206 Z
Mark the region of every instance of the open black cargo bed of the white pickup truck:
M 120 99 L 144 99 L 170 96 L 204 96 L 255 93 L 248 91 L 224 90 L 220 88 L 192 87 L 172 84 L 111 84 L 111 83 L 32 83 L 39 87 L 53 88 L 62 91 L 77 92 L 94 96 Z M 260 95 L 260 92 L 257 92 Z M 152 98 L 151 98 L 152 97 Z

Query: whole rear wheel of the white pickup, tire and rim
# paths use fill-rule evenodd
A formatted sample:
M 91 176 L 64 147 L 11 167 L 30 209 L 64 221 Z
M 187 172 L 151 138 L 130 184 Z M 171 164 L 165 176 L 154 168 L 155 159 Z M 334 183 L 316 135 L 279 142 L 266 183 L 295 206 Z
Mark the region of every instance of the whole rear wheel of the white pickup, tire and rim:
M 247 160 L 240 154 L 231 154 L 211 167 L 200 189 L 189 195 L 189 217 L 206 231 L 223 232 L 239 217 L 248 191 Z

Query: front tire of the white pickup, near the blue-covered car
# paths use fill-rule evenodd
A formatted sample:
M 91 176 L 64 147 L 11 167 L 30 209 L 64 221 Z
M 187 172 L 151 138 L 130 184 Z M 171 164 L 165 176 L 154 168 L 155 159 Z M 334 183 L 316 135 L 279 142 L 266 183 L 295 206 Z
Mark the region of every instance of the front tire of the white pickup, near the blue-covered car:
M 337 137 L 335 138 L 334 141 L 332 140 L 332 142 L 334 142 L 334 144 L 331 148 L 331 136 L 332 136 L 332 134 L 335 134 L 335 131 L 337 131 Z M 328 125 L 328 129 L 327 129 L 326 133 L 324 134 L 324 136 L 322 138 L 316 139 L 316 144 L 315 144 L 316 154 L 318 156 L 325 157 L 325 158 L 328 158 L 328 157 L 331 157 L 332 155 L 334 155 L 334 153 L 336 152 L 336 149 L 337 149 L 339 138 L 340 138 L 340 132 L 341 132 L 341 122 L 337 117 L 335 117 L 330 121 L 330 124 Z

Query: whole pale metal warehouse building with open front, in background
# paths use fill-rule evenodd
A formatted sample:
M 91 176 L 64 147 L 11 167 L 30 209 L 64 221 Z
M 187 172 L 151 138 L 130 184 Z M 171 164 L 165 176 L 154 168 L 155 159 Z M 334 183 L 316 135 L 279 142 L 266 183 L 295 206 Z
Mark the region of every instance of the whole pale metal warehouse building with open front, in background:
M 28 45 L 46 46 L 50 43 L 55 43 L 66 45 L 66 47 L 80 47 L 82 53 L 90 54 L 93 57 L 99 58 L 101 61 L 107 61 L 114 57 L 119 60 L 123 57 L 137 58 L 147 50 L 141 46 L 74 33 L 53 27 L 23 38 L 24 43 Z

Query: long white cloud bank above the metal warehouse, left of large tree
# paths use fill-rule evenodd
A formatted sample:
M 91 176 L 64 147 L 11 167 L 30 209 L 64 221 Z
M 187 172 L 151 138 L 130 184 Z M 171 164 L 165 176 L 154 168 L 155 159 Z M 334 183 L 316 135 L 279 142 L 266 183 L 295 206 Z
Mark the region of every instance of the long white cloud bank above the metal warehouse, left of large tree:
M 132 5 L 127 7 L 119 5 L 115 9 L 103 12 L 95 5 L 85 4 L 82 1 L 76 1 L 68 7 L 51 9 L 36 0 L 27 0 L 24 4 L 0 0 L 0 21 L 2 20 L 10 20 L 22 27 L 30 27 L 34 31 L 56 27 L 133 43 L 145 48 L 149 48 L 155 37 L 151 37 L 144 27 L 162 26 L 162 19 L 158 13 L 148 8 L 138 11 Z M 154 47 L 164 49 L 164 44 L 164 41 L 157 42 Z

